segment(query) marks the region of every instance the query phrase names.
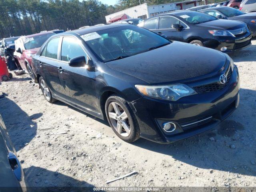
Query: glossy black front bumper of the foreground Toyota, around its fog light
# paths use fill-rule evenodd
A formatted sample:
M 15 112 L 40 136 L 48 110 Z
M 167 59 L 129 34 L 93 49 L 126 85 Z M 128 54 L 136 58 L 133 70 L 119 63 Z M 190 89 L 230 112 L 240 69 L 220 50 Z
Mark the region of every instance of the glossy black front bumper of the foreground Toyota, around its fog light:
M 219 91 L 187 96 L 176 102 L 144 96 L 132 102 L 140 137 L 164 144 L 210 130 L 238 106 L 238 92 L 239 76 L 235 66 L 230 82 Z M 166 133 L 161 128 L 162 122 L 174 122 L 177 128 L 171 134 Z

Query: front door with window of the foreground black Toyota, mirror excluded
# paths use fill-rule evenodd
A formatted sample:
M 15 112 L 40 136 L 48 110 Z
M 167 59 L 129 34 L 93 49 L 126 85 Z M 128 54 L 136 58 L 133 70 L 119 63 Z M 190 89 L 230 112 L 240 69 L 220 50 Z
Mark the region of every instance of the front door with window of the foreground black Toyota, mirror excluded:
M 97 111 L 95 72 L 89 72 L 86 67 L 68 65 L 70 59 L 78 56 L 84 56 L 87 60 L 86 51 L 81 46 L 80 40 L 73 36 L 64 36 L 60 50 L 61 64 L 58 70 L 60 82 L 67 94 L 67 100 L 83 108 Z

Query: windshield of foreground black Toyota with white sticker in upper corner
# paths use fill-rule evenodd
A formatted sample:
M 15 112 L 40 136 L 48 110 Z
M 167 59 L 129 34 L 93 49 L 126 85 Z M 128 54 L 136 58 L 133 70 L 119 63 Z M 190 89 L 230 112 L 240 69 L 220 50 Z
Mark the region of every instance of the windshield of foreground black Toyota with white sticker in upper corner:
M 126 25 L 81 35 L 102 62 L 150 51 L 170 41 L 144 28 Z

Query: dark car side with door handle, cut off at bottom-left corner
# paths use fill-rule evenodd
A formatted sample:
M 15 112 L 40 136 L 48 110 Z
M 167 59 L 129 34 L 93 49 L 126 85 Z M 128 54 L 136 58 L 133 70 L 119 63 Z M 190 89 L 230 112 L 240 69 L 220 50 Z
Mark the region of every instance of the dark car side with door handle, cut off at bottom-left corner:
M 24 172 L 0 115 L 0 191 L 25 192 Z

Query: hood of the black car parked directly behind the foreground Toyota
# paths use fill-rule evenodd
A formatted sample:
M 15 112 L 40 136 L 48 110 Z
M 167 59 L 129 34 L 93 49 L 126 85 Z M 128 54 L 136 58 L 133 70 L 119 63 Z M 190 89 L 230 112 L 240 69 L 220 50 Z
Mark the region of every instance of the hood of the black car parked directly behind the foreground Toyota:
M 245 24 L 240 21 L 218 19 L 218 20 L 209 21 L 206 23 L 196 24 L 196 26 L 202 26 L 202 27 L 207 27 L 210 29 L 217 29 L 217 30 L 235 30 L 235 29 L 243 28 Z

